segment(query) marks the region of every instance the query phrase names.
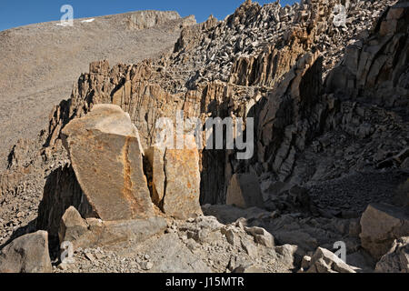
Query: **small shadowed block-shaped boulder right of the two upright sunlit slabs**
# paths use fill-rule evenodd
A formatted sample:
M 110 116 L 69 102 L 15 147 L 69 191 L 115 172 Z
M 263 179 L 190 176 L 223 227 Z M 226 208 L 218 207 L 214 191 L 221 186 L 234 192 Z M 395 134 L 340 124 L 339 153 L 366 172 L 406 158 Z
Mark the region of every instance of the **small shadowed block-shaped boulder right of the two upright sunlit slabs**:
M 241 208 L 262 208 L 263 196 L 257 177 L 253 174 L 234 174 L 227 188 L 226 204 Z

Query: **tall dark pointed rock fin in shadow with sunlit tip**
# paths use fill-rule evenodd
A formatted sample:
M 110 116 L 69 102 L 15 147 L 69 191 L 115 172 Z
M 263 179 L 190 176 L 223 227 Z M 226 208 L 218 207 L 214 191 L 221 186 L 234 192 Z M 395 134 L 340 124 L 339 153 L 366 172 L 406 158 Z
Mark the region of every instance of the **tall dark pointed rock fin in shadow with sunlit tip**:
M 307 53 L 284 75 L 258 113 L 257 159 L 285 181 L 293 174 L 295 154 L 322 126 L 322 58 Z

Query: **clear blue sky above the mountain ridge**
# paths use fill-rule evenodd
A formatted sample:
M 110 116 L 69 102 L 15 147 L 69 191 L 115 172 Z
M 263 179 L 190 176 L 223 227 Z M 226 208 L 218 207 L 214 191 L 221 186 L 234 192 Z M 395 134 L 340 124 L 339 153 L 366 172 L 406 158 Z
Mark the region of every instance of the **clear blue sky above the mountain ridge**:
M 256 1 L 261 5 L 275 0 Z M 281 5 L 296 0 L 281 0 Z M 224 19 L 234 12 L 244 0 L 0 0 L 0 31 L 15 26 L 59 20 L 60 8 L 69 4 L 74 7 L 74 17 L 114 15 L 136 10 L 175 10 L 182 16 L 195 15 L 203 22 L 213 14 Z

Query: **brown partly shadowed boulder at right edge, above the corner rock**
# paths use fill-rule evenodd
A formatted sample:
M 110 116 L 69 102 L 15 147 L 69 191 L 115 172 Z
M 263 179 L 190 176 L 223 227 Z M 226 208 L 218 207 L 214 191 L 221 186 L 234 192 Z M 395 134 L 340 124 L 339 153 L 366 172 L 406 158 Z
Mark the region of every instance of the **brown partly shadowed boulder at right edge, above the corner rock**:
M 395 239 L 409 235 L 407 208 L 386 204 L 369 205 L 361 217 L 362 246 L 374 258 L 384 256 Z

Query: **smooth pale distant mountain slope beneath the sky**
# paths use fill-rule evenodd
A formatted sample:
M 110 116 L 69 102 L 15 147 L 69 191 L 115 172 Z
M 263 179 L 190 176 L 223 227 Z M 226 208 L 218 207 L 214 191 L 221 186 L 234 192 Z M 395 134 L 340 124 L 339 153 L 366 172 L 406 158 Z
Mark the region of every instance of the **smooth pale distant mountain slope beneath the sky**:
M 51 22 L 1 32 L 0 166 L 18 138 L 38 134 L 89 63 L 137 63 L 161 55 L 173 48 L 182 27 L 193 24 L 193 16 L 141 11 L 75 19 L 72 27 Z

